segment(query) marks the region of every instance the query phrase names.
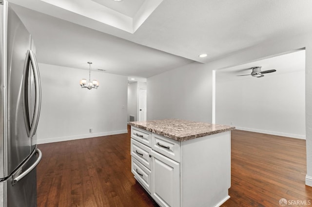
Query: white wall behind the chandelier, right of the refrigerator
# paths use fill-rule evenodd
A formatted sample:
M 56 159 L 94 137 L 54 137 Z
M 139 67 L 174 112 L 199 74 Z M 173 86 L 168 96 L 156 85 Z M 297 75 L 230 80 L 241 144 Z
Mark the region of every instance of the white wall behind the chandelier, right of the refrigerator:
M 88 90 L 79 86 L 88 70 L 39 64 L 39 71 L 38 143 L 127 133 L 126 76 L 92 71 L 100 86 Z

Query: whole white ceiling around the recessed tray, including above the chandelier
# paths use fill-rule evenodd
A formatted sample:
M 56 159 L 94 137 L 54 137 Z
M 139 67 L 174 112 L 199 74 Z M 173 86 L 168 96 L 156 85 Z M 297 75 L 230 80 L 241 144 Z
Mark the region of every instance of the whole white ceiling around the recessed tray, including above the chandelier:
M 82 68 L 92 61 L 107 72 L 145 78 L 312 32 L 312 0 L 157 0 L 134 34 L 44 2 L 51 0 L 9 1 L 23 6 L 13 5 L 35 38 L 39 62 Z M 98 5 L 115 11 L 108 4 L 130 1 Z M 200 53 L 208 56 L 199 58 Z

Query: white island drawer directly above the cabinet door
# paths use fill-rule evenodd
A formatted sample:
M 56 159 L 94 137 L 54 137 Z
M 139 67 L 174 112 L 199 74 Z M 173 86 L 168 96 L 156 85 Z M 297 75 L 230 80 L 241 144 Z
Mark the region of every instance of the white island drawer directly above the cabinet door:
M 152 133 L 152 149 L 176 162 L 181 160 L 181 142 Z

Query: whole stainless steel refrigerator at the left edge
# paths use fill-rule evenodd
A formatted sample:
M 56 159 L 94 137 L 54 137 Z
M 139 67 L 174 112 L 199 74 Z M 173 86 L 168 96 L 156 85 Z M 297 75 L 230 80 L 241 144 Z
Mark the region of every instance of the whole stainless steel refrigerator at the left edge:
M 30 34 L 0 0 L 0 207 L 36 207 L 39 69 Z

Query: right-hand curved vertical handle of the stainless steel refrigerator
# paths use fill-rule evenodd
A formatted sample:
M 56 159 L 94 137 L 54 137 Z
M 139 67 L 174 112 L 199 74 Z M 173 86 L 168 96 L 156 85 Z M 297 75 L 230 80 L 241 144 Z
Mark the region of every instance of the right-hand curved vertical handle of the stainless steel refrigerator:
M 41 83 L 40 83 L 40 75 L 39 75 L 39 67 L 37 63 L 37 59 L 35 53 L 29 50 L 30 62 L 32 64 L 34 70 L 34 79 L 35 79 L 35 111 L 33 123 L 30 129 L 30 136 L 33 137 L 37 131 L 37 126 L 39 122 L 40 108 L 41 108 Z

